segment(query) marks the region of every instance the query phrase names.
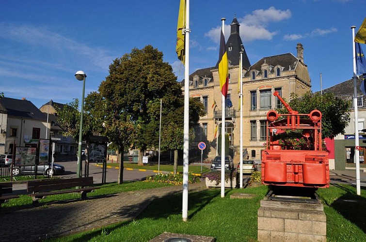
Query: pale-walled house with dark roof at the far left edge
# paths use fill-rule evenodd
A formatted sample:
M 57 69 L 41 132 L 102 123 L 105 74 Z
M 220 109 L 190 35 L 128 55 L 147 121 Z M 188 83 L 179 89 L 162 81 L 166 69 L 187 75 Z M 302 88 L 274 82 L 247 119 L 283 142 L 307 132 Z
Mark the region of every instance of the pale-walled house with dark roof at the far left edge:
M 0 153 L 12 153 L 16 147 L 37 147 L 46 138 L 47 117 L 31 101 L 0 99 Z

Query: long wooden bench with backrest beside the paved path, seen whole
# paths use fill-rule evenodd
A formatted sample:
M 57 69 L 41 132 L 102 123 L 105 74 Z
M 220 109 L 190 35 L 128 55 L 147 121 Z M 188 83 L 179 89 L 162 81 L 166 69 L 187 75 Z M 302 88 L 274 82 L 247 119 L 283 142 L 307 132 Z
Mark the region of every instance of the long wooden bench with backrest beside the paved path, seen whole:
M 41 180 L 41 181 L 27 181 L 27 191 L 32 197 L 33 206 L 38 205 L 38 200 L 47 197 L 48 195 L 64 194 L 64 193 L 81 193 L 81 199 L 86 199 L 86 194 L 92 192 L 100 187 L 86 187 L 93 185 L 93 177 L 80 177 L 57 180 Z M 74 188 L 67 190 L 60 190 L 66 188 Z M 81 188 L 76 188 L 81 187 Z

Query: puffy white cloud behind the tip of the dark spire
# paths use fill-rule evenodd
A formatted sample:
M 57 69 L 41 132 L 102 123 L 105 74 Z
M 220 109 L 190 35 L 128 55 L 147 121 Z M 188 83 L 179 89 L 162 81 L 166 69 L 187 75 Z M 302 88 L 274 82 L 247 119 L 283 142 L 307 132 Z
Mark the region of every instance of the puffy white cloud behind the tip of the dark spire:
M 290 10 L 278 10 L 274 7 L 269 9 L 258 9 L 252 12 L 250 15 L 245 15 L 242 18 L 238 18 L 240 23 L 240 33 L 243 33 L 241 39 L 244 42 L 250 42 L 254 40 L 271 40 L 272 37 L 278 34 L 277 31 L 271 31 L 268 25 L 273 22 L 279 22 L 291 17 Z M 225 25 L 225 36 L 230 34 L 230 25 Z M 220 41 L 221 26 L 212 28 L 205 36 L 209 37 L 214 43 Z

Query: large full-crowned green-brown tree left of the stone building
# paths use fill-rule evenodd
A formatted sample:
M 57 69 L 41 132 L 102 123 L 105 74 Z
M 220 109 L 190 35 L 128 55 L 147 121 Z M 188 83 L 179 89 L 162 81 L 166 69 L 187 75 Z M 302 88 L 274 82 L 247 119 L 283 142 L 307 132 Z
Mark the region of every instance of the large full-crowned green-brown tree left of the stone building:
M 156 145 L 160 99 L 165 110 L 174 110 L 182 97 L 173 69 L 162 57 L 151 45 L 134 48 L 111 63 L 110 75 L 99 86 L 105 100 L 105 120 L 133 125 L 136 139 L 129 141 L 140 149 L 139 165 L 143 165 L 144 151 Z

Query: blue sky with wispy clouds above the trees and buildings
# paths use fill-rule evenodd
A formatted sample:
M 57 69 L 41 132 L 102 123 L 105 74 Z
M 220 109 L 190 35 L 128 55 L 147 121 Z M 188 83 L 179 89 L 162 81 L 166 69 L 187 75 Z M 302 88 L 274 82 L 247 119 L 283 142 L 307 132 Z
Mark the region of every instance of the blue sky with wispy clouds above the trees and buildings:
M 115 58 L 153 45 L 178 77 L 175 54 L 179 0 L 0 0 L 0 92 L 40 107 L 70 103 L 97 91 Z M 304 47 L 312 91 L 353 75 L 352 32 L 362 24 L 366 0 L 191 0 L 190 73 L 214 66 L 222 17 L 225 36 L 236 15 L 249 61 Z M 365 45 L 362 45 L 364 52 Z

